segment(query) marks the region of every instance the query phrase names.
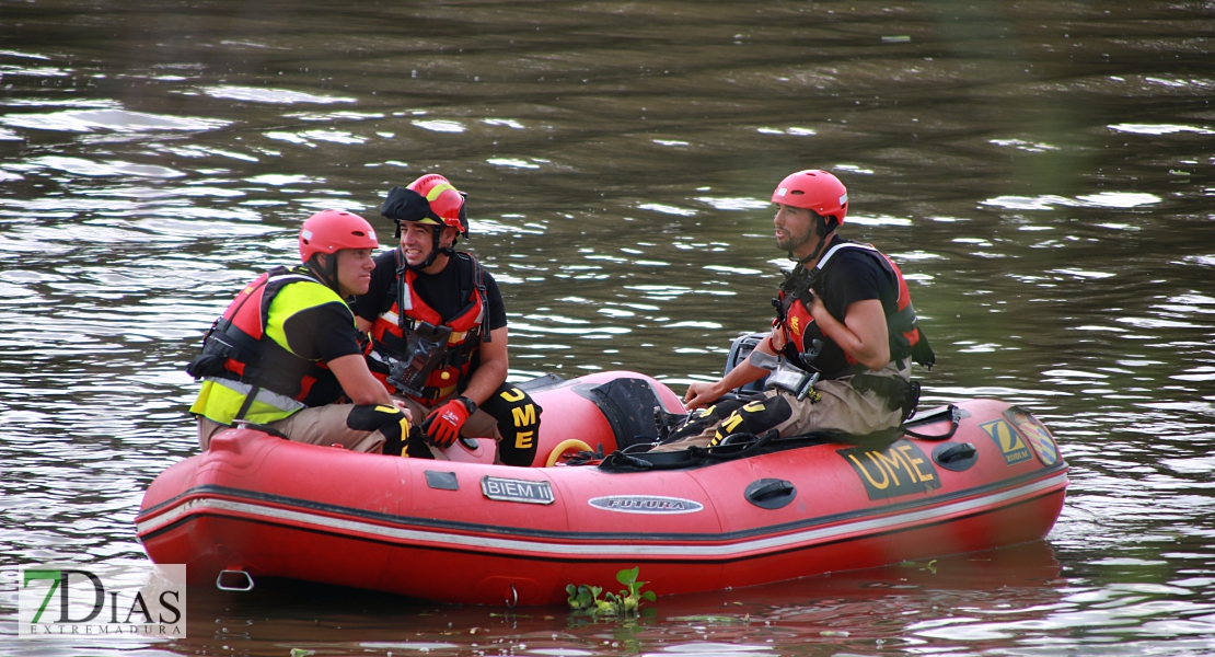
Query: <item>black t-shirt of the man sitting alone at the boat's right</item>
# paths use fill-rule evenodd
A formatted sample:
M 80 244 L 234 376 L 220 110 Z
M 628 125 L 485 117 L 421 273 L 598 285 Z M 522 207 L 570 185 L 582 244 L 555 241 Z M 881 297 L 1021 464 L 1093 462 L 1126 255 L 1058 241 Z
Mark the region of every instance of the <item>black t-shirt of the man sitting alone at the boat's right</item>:
M 836 244 L 838 238 L 826 249 Z M 831 256 L 826 270 L 819 277 L 815 294 L 821 294 L 823 305 L 840 323 L 844 322 L 848 306 L 857 301 L 877 299 L 882 302 L 882 311 L 887 316 L 898 310 L 899 290 L 875 257 L 882 256 L 860 249 L 841 249 Z M 823 335 L 816 323 L 812 323 L 806 330 L 806 346 L 809 347 L 810 340 L 815 338 L 824 342 L 823 351 L 813 362 L 823 376 L 833 379 L 849 374 L 847 370 L 852 366 L 844 357 L 843 349 L 835 340 Z

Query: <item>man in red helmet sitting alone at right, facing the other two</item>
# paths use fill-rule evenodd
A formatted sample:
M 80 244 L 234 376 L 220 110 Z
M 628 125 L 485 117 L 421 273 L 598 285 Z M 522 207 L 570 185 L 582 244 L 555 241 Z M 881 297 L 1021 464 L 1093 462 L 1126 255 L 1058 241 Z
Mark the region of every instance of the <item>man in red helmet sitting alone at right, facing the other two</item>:
M 781 436 L 880 437 L 915 409 L 911 362 L 931 367 L 934 357 L 898 266 L 874 247 L 836 234 L 848 214 L 843 183 L 826 171 L 798 171 L 780 182 L 772 202 L 776 247 L 797 261 L 774 300 L 772 333 L 720 380 L 688 387 L 684 402 L 695 413 L 657 451 L 772 429 Z M 714 404 L 769 375 L 763 396 Z

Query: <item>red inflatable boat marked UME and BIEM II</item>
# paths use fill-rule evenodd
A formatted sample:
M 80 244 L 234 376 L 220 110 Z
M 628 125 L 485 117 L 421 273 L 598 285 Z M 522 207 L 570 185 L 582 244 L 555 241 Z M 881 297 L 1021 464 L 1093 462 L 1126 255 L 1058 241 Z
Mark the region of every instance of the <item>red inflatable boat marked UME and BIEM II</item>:
M 139 537 L 196 584 L 288 577 L 547 605 L 566 584 L 611 589 L 634 566 L 667 595 L 1040 539 L 1068 485 L 1050 432 L 991 400 L 909 423 L 933 440 L 778 438 L 688 464 L 640 454 L 573 466 L 561 453 L 654 441 L 679 400 L 618 372 L 525 387 L 544 409 L 535 468 L 493 465 L 488 444 L 453 447 L 450 461 L 402 459 L 233 429 L 157 477 Z

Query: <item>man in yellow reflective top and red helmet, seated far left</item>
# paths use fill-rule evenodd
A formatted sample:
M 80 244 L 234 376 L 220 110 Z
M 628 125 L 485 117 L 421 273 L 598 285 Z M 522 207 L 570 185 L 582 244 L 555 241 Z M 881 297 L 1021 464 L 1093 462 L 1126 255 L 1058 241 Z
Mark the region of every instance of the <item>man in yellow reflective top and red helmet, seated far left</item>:
M 363 217 L 326 210 L 300 228 L 303 266 L 276 267 L 237 294 L 186 368 L 203 380 L 190 408 L 203 449 L 248 421 L 296 442 L 429 455 L 367 369 L 345 301 L 367 291 L 378 245 Z

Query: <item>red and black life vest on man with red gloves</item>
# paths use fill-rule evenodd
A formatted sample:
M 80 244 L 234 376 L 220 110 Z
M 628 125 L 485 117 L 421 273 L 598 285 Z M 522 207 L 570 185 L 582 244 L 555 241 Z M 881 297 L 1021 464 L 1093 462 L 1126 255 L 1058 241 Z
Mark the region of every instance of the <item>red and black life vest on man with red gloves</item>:
M 452 329 L 447 338 L 447 352 L 442 362 L 430 372 L 422 397 L 413 397 L 425 406 L 437 406 L 457 392 L 468 387 L 468 379 L 479 364 L 477 350 L 481 346 L 484 324 L 488 321 L 488 298 L 485 293 L 485 270 L 470 254 L 456 251 L 458 268 L 459 299 L 467 300 L 454 317 L 442 321 L 439 312 L 431 308 L 414 289 L 418 273 L 405 267 L 401 250 L 396 250 L 396 282 L 384 300 L 379 317 L 372 323 L 372 341 L 368 346 L 368 367 L 372 375 L 384 384 L 392 395 L 401 391 L 388 383 L 392 361 L 407 357 L 409 333 L 418 322 Z

